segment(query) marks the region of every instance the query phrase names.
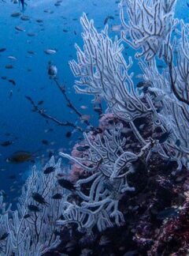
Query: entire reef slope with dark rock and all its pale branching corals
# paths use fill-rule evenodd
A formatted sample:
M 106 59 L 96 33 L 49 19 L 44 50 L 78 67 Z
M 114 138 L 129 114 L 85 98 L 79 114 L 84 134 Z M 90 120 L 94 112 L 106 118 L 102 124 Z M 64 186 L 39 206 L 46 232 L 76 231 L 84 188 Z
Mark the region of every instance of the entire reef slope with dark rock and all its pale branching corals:
M 1 206 L 2 254 L 188 254 L 189 32 L 175 6 L 122 0 L 115 40 L 83 14 L 83 50 L 76 45 L 69 65 L 76 92 L 105 100 L 106 113 L 71 154 L 60 153 L 69 177 L 52 158 L 34 169 L 16 211 Z M 124 42 L 137 50 L 137 85 Z

